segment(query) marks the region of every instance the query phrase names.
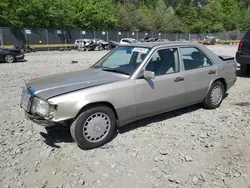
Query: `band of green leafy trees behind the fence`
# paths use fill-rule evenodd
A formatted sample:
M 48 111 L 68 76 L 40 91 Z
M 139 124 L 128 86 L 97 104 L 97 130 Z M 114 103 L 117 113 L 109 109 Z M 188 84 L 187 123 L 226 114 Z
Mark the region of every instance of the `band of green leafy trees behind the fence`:
M 0 26 L 246 31 L 250 28 L 250 0 L 1 0 Z

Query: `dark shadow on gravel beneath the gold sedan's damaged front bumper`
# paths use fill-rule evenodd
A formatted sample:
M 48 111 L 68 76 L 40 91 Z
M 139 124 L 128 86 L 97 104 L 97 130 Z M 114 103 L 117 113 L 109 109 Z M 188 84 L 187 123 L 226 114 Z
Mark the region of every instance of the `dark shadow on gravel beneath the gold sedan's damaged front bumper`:
M 68 128 L 54 128 L 49 130 L 49 133 L 40 133 L 40 135 L 45 139 L 44 142 L 53 148 L 60 148 L 56 145 L 57 143 L 72 143 L 75 142 L 70 134 Z

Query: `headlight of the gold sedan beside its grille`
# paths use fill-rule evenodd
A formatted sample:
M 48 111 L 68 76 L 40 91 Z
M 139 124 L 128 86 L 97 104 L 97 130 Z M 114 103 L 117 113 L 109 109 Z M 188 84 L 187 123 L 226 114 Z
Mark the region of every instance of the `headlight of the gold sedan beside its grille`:
M 47 102 L 37 97 L 32 100 L 31 113 L 48 117 L 54 108 Z

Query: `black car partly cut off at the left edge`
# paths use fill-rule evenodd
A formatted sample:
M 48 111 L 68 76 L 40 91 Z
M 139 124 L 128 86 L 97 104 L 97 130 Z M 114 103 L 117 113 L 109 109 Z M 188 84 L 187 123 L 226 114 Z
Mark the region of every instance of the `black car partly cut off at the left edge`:
M 0 61 L 6 63 L 24 61 L 24 54 L 21 50 L 0 48 Z

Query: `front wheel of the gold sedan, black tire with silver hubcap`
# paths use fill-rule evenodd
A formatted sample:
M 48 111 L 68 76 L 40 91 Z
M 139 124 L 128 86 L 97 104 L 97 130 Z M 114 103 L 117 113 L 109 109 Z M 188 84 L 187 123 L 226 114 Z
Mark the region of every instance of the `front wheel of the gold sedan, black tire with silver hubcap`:
M 94 106 L 82 112 L 70 126 L 72 138 L 84 149 L 98 148 L 111 141 L 116 117 L 107 106 Z

